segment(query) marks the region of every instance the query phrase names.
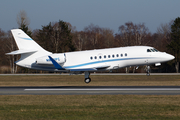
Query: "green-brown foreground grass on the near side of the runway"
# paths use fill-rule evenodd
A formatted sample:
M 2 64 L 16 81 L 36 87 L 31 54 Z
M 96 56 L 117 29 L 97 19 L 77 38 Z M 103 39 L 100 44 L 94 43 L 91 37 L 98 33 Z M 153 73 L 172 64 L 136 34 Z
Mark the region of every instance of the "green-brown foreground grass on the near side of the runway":
M 179 120 L 179 99 L 179 95 L 3 95 L 0 119 Z

